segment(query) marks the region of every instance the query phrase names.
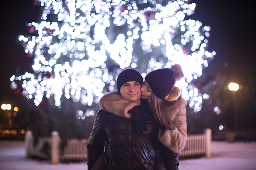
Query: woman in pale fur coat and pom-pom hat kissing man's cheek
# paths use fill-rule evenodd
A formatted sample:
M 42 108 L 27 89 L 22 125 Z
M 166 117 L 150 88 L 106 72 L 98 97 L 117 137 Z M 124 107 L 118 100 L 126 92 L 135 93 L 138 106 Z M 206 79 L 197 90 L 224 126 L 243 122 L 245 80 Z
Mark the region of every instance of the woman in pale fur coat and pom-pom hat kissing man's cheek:
M 148 99 L 159 123 L 158 139 L 173 152 L 180 152 L 187 139 L 187 103 L 180 96 L 180 89 L 174 87 L 183 76 L 181 66 L 174 64 L 171 68 L 151 71 L 141 86 L 141 98 Z M 110 113 L 131 118 L 128 111 L 137 104 L 122 99 L 118 92 L 110 92 L 101 97 L 99 106 Z

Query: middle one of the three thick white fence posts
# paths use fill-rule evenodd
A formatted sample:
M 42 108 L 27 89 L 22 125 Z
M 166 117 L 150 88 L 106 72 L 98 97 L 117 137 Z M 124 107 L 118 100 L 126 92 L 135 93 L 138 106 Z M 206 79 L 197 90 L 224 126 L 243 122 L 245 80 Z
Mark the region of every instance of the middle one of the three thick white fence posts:
M 57 131 L 52 132 L 52 164 L 58 164 L 60 160 L 60 150 L 59 150 L 59 141 L 60 138 L 58 136 Z

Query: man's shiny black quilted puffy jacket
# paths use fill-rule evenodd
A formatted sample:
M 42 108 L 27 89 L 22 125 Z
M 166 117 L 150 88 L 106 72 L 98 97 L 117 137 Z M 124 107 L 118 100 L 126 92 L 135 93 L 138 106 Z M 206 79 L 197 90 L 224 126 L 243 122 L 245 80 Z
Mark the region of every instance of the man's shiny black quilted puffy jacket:
M 148 109 L 145 110 L 147 111 L 144 113 L 144 119 L 148 131 L 144 131 L 143 135 L 132 132 L 131 119 L 119 117 L 102 109 L 99 110 L 87 146 L 88 170 L 92 169 L 97 158 L 102 154 L 105 141 L 106 170 L 153 170 L 159 128 L 152 114 L 150 116 Z M 175 165 L 177 168 L 177 154 L 173 154 L 171 150 L 164 147 L 159 148 L 162 148 L 160 152 L 165 157 L 163 160 L 166 165 L 170 165 L 170 167 Z

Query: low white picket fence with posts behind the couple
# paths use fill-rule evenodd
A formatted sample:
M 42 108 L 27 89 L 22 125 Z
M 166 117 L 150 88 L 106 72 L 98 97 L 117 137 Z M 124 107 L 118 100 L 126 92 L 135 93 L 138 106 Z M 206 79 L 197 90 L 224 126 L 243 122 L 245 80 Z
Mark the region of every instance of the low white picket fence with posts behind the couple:
M 58 132 L 52 132 L 52 137 L 40 138 L 36 146 L 33 145 L 33 136 L 30 131 L 25 134 L 26 157 L 39 157 L 51 159 L 52 164 L 59 163 L 60 160 L 86 160 L 87 159 L 87 139 L 70 139 L 64 152 L 60 150 L 61 139 Z M 48 154 L 41 152 L 45 144 L 49 144 Z M 180 157 L 206 156 L 211 157 L 211 129 L 206 129 L 203 134 L 188 135 L 185 148 L 179 152 Z

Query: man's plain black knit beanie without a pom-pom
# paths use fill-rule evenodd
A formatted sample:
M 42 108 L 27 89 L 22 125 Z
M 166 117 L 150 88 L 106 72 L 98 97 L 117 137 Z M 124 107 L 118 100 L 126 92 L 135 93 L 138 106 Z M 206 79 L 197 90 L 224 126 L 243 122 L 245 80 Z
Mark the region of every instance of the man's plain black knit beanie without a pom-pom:
M 125 69 L 117 77 L 117 91 L 120 92 L 121 86 L 126 82 L 133 82 L 133 81 L 139 82 L 139 84 L 142 85 L 143 78 L 141 74 L 138 71 L 131 68 Z

